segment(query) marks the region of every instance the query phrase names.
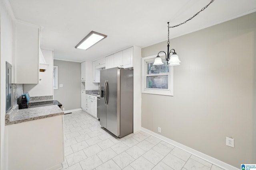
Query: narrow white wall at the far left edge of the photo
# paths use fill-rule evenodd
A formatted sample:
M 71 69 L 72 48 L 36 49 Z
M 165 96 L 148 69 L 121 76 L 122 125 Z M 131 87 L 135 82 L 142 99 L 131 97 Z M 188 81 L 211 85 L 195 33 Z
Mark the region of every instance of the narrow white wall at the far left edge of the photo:
M 12 17 L 6 10 L 4 0 L 0 0 L 0 169 L 5 170 L 5 94 L 6 65 L 12 64 Z

